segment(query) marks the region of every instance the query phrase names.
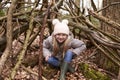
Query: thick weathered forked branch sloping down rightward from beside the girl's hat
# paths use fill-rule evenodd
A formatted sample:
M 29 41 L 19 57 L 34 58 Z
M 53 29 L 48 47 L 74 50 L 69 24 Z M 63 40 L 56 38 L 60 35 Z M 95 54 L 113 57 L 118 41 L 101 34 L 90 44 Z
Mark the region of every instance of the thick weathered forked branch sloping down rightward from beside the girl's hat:
M 93 30 L 90 30 L 89 28 L 85 28 L 84 26 L 80 25 L 79 23 L 76 24 L 74 22 L 71 22 L 69 24 L 70 26 L 74 26 L 74 27 L 78 27 L 80 29 L 82 29 L 86 34 L 89 35 L 89 38 L 91 39 L 94 39 L 95 41 L 92 41 L 92 43 L 94 43 L 94 45 L 100 49 L 105 55 L 106 57 L 108 57 L 113 63 L 116 63 L 118 66 L 120 66 L 120 63 L 118 62 L 117 58 L 113 58 L 110 56 L 110 54 L 108 52 L 105 52 L 104 51 L 104 48 L 102 47 L 99 47 L 98 44 L 102 44 L 104 46 L 107 46 L 107 47 L 111 47 L 111 48 L 114 48 L 114 49 L 119 49 L 120 50 L 120 44 L 117 43 L 117 42 L 113 42 L 112 40 L 108 39 L 108 38 L 105 38 L 103 36 L 100 36 L 100 32 L 98 31 L 93 31 Z M 92 24 L 93 25 L 93 24 Z M 98 44 L 97 44 L 97 43 Z

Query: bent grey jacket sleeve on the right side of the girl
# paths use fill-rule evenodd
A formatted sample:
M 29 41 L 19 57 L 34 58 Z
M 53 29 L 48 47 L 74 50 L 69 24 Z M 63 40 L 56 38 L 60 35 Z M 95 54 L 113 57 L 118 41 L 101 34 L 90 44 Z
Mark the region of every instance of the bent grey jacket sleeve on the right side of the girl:
M 79 39 L 73 39 L 71 42 L 72 52 L 79 55 L 86 49 L 86 45 L 83 41 Z

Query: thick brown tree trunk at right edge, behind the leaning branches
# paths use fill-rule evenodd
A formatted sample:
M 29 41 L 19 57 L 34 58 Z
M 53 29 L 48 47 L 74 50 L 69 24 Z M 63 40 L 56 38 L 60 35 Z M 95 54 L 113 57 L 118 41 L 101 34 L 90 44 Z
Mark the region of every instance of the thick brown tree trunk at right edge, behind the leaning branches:
M 117 23 L 120 23 L 120 0 L 103 0 L 103 8 L 108 6 L 102 11 L 102 15 L 106 18 L 109 18 Z M 111 25 L 108 25 L 104 22 L 101 22 L 101 30 L 104 32 L 108 32 L 110 34 L 113 34 L 117 37 L 120 37 L 120 32 L 118 29 L 115 29 L 114 27 L 111 27 Z M 119 55 L 119 52 L 114 50 L 115 55 Z M 110 62 L 104 55 L 98 54 L 97 55 L 97 63 L 99 61 L 99 64 L 102 68 L 107 69 L 114 74 L 119 74 L 119 67 L 116 66 L 114 63 Z M 118 56 L 119 57 L 119 56 Z M 113 70 L 114 69 L 114 70 Z

